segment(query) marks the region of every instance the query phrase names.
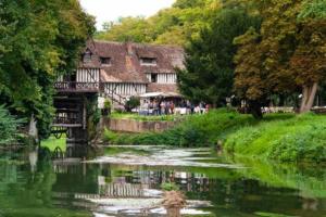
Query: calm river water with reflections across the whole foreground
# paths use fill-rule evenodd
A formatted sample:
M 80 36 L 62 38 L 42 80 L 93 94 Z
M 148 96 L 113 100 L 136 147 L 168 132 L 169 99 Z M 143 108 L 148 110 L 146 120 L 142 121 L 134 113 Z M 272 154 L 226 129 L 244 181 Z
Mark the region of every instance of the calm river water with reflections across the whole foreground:
M 326 168 L 235 159 L 211 149 L 112 146 L 80 158 L 45 150 L 0 153 L 0 217 L 165 216 L 163 190 L 187 199 L 183 216 L 326 216 Z

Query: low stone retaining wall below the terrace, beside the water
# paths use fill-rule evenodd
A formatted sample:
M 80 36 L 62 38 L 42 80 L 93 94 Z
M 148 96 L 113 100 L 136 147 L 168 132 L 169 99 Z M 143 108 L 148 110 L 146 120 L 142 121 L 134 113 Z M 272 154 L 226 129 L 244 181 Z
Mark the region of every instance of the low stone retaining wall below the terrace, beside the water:
M 177 122 L 140 122 L 135 119 L 106 119 L 104 126 L 117 132 L 161 132 L 174 127 Z

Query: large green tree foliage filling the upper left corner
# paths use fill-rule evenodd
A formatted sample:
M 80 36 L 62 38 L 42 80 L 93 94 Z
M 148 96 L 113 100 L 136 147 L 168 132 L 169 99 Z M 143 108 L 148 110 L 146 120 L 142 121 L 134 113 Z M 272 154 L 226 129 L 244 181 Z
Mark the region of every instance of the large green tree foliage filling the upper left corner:
M 53 113 L 53 82 L 75 68 L 93 31 L 93 20 L 76 0 L 0 4 L 0 102 L 20 117 L 34 114 L 40 136 L 46 137 Z

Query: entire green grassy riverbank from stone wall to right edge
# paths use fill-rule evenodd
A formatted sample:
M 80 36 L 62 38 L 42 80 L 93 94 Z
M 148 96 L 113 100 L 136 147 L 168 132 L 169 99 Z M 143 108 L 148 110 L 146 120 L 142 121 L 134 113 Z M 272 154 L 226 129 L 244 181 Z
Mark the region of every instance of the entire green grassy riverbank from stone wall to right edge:
M 115 133 L 105 130 L 104 143 L 209 146 L 218 141 L 231 154 L 280 162 L 326 162 L 326 116 L 269 114 L 262 120 L 217 110 L 185 117 L 161 133 Z

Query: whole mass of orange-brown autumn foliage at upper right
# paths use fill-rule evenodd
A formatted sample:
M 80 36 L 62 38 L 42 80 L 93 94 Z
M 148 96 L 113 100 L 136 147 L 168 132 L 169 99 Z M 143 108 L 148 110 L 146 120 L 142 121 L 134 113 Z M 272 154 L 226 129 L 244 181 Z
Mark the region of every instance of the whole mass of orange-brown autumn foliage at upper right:
M 261 29 L 249 29 L 235 39 L 235 90 L 249 101 L 259 117 L 260 107 L 273 94 L 303 92 L 306 111 L 313 86 L 325 77 L 325 18 L 322 1 L 258 1 Z M 318 17 L 318 18 L 316 18 Z M 310 103 L 308 103 L 310 102 Z

